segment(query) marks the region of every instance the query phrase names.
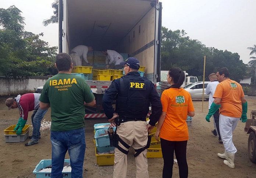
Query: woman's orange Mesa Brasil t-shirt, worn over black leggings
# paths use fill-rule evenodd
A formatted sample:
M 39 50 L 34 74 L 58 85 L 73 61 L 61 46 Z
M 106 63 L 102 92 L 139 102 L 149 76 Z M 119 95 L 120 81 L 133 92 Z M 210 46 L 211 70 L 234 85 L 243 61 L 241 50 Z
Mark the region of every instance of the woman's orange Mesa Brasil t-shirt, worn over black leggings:
M 189 92 L 183 88 L 169 88 L 161 96 L 163 112 L 166 112 L 160 138 L 169 141 L 188 140 L 188 112 L 195 111 Z

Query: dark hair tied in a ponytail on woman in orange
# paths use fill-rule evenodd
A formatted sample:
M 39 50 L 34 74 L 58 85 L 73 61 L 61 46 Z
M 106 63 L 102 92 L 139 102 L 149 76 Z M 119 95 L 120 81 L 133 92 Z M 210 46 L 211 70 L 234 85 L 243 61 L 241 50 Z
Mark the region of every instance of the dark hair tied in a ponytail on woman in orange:
M 180 88 L 185 80 L 185 73 L 180 68 L 170 68 L 168 74 L 174 81 L 170 88 Z

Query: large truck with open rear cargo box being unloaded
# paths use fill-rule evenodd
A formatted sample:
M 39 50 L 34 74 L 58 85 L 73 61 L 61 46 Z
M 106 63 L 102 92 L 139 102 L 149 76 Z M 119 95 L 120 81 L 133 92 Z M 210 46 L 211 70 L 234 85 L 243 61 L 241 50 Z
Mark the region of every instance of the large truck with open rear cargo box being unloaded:
M 59 4 L 63 4 L 59 13 L 59 52 L 70 54 L 78 45 L 92 46 L 95 51 L 115 50 L 138 58 L 146 67 L 144 76 L 154 84 L 160 81 L 161 2 L 59 0 Z M 106 117 L 102 97 L 111 81 L 86 81 L 95 95 L 96 106 L 85 106 L 85 118 Z

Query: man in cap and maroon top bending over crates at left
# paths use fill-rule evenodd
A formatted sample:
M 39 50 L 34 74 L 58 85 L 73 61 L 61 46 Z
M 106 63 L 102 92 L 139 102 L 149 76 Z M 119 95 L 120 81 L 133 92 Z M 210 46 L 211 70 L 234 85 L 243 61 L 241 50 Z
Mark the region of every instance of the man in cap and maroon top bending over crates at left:
M 40 127 L 41 121 L 47 109 L 39 108 L 39 97 L 38 93 L 27 93 L 24 95 L 18 95 L 16 98 L 8 98 L 6 99 L 6 106 L 8 109 L 19 109 L 19 121 L 14 128 L 14 131 L 17 131 L 17 135 L 20 135 L 22 129 L 24 128 L 27 120 L 28 120 L 28 112 L 33 110 L 31 121 L 33 125 L 32 136 L 29 136 L 31 140 L 29 140 L 25 146 L 31 146 L 38 144 L 38 139 L 41 138 Z

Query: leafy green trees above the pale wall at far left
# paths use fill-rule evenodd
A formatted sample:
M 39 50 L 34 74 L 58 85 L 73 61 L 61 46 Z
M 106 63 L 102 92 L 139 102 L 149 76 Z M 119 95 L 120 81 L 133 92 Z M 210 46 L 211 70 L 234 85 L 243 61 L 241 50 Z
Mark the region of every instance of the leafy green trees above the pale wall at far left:
M 49 47 L 35 35 L 24 31 L 21 11 L 11 6 L 0 8 L 0 75 L 29 77 L 36 73 L 51 74 L 57 47 Z

